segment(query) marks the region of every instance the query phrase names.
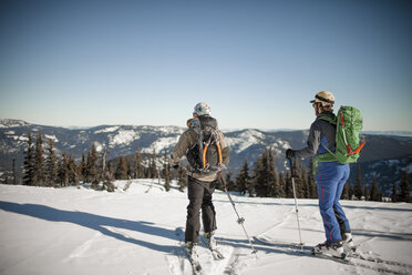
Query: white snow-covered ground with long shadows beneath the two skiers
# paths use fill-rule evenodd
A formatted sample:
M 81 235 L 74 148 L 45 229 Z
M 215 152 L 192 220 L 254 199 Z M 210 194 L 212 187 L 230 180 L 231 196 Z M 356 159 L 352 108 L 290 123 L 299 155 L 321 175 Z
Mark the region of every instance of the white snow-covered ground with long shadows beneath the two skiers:
M 193 274 L 176 235 L 187 193 L 176 185 L 165 192 L 158 180 L 115 185 L 114 193 L 0 185 L 0 274 Z M 299 242 L 293 200 L 231 195 L 250 236 Z M 200 246 L 205 274 L 412 274 L 411 204 L 342 201 L 358 251 L 384 259 L 351 266 L 257 243 L 251 254 L 226 194 L 216 191 L 214 203 L 226 258 Z M 317 201 L 298 203 L 302 241 L 323 242 Z

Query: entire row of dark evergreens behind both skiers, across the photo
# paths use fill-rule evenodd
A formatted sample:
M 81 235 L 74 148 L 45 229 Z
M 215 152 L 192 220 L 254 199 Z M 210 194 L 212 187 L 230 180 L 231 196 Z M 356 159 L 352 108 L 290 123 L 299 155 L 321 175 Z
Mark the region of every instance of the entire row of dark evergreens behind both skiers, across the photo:
M 82 153 L 79 164 L 73 159 L 73 153 L 63 152 L 56 155 L 53 140 L 49 139 L 43 144 L 42 135 L 37 135 L 33 142 L 29 133 L 28 147 L 24 155 L 22 183 L 31 186 L 63 187 L 78 185 L 81 182 L 91 183 L 94 190 L 114 191 L 113 181 L 131 179 L 164 179 L 166 191 L 171 189 L 172 180 L 178 182 L 178 189 L 183 192 L 187 186 L 186 170 L 171 171 L 167 150 L 158 157 L 156 152 L 143 160 L 141 149 L 137 147 L 133 156 L 120 156 L 115 161 L 107 161 L 107 149 L 97 152 L 93 144 L 87 152 Z M 353 165 L 353 164 L 352 164 Z M 16 161 L 12 163 L 12 177 L 6 177 L 3 183 L 17 184 Z M 293 173 L 296 195 L 298 198 L 318 198 L 317 185 L 312 173 L 313 161 L 306 165 L 295 159 Z M 259 197 L 293 197 L 290 171 L 278 171 L 275 166 L 275 157 L 271 147 L 261 152 L 254 167 L 247 160 L 237 175 L 229 171 L 225 174 L 229 191 L 239 192 L 244 195 Z M 362 183 L 360 166 L 357 166 L 357 181 L 354 184 L 347 183 L 342 192 L 343 200 L 382 201 L 383 194 L 378 185 L 377 176 L 372 183 Z M 217 186 L 224 190 L 222 183 Z M 411 202 L 408 167 L 400 184 L 392 185 L 392 202 Z

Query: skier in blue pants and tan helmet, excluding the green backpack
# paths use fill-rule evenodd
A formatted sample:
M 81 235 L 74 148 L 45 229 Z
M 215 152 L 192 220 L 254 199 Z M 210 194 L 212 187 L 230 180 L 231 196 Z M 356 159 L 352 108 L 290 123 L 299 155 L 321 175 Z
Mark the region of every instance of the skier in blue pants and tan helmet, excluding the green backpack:
M 320 119 L 320 116 L 334 119 L 334 96 L 331 92 L 321 91 L 310 102 L 317 119 L 310 126 L 307 146 L 302 150 L 288 149 L 286 151 L 287 159 L 326 154 L 328 151 L 323 145 L 334 152 L 336 125 Z M 341 257 L 344 252 L 353 247 L 350 224 L 339 203 L 349 173 L 349 164 L 340 164 L 336 161 L 318 163 L 316 181 L 319 210 L 327 241 L 315 246 L 313 252 L 316 253 Z

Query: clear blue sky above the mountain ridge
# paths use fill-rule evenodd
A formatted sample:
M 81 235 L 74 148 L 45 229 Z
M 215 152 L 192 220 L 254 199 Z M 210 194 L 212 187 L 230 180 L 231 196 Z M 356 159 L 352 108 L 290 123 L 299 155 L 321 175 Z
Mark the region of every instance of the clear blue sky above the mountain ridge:
M 308 129 L 329 90 L 412 131 L 412 2 L 0 2 L 0 118 L 47 125 Z

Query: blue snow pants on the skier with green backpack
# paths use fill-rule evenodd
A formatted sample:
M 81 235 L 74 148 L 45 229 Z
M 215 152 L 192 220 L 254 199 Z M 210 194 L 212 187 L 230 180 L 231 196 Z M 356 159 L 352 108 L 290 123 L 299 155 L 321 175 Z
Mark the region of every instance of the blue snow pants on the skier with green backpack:
M 349 221 L 339 203 L 349 173 L 349 164 L 338 162 L 319 162 L 317 167 L 319 210 L 330 243 L 341 241 L 342 234 L 350 232 Z

